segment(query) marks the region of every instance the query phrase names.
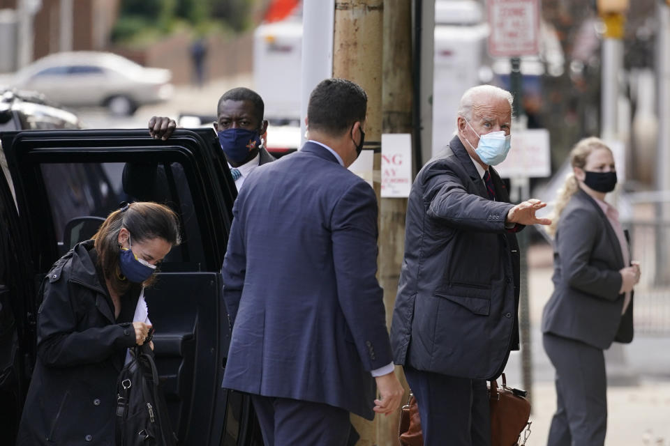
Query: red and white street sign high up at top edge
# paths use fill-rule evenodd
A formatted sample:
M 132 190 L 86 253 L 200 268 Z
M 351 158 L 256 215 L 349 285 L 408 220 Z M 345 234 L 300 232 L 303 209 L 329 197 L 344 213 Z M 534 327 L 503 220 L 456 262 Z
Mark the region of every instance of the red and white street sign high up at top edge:
M 532 56 L 539 52 L 538 0 L 488 0 L 489 54 Z

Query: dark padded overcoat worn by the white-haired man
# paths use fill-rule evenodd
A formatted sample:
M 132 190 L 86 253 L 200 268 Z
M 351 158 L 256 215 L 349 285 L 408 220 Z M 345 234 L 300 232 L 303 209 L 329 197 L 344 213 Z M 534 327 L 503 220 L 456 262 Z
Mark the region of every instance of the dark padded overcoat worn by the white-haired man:
M 458 137 L 419 171 L 408 199 L 405 256 L 391 325 L 396 364 L 495 378 L 519 346 L 519 245 L 512 204 L 489 167 L 489 199 Z

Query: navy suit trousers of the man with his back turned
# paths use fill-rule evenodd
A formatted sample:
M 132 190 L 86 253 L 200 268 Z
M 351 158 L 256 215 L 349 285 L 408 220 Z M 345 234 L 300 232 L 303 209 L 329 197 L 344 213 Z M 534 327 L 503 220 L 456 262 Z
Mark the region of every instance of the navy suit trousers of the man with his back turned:
M 345 446 L 347 410 L 297 399 L 251 395 L 265 446 Z

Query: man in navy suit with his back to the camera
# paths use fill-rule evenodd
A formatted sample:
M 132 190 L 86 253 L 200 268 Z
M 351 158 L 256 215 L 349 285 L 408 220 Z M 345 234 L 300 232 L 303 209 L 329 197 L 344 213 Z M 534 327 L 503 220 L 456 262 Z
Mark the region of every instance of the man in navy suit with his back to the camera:
M 375 278 L 377 201 L 346 169 L 363 146 L 366 105 L 353 82 L 318 84 L 311 139 L 253 171 L 234 204 L 223 386 L 252 395 L 266 445 L 345 445 L 350 412 L 372 420 L 403 394 Z

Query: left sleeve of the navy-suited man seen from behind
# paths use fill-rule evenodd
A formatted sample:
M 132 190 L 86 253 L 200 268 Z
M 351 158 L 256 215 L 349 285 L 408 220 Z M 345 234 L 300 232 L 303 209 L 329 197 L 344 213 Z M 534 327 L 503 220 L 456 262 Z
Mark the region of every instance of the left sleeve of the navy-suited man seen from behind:
M 232 226 L 228 238 L 228 249 L 223 258 L 223 268 L 221 270 L 223 279 L 223 301 L 228 312 L 228 323 L 230 328 L 237 316 L 239 300 L 242 296 L 244 286 L 244 277 L 246 275 L 246 254 L 244 252 L 244 238 L 242 228 L 244 222 L 239 218 L 239 208 L 241 199 L 237 199 L 232 207 Z

